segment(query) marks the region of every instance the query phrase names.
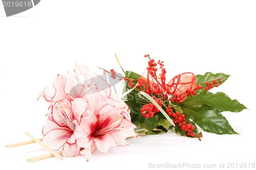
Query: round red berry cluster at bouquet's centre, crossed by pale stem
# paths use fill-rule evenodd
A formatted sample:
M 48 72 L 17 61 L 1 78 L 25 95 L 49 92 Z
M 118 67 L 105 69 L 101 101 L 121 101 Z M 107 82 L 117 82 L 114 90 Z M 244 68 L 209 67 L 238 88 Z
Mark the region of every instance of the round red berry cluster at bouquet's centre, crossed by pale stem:
M 158 105 L 160 107 L 162 107 L 161 99 L 157 99 L 157 98 L 155 98 L 155 96 L 153 96 L 153 97 L 154 97 L 153 99 L 158 103 Z M 155 113 L 159 112 L 159 111 L 160 110 L 153 103 L 145 104 L 140 109 L 141 115 L 145 116 L 145 118 L 153 117 L 155 115 Z

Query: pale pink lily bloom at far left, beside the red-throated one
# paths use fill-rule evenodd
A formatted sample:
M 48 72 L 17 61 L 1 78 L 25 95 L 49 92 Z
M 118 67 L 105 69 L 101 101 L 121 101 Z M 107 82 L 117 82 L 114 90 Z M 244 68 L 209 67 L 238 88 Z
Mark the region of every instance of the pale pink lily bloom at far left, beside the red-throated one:
M 42 129 L 44 142 L 53 150 L 63 150 L 63 156 L 79 155 L 80 147 L 75 139 L 81 134 L 75 131 L 75 128 L 77 119 L 80 119 L 82 114 L 87 115 L 86 110 L 87 101 L 82 98 L 76 98 L 74 101 L 65 99 L 50 106 L 47 123 Z

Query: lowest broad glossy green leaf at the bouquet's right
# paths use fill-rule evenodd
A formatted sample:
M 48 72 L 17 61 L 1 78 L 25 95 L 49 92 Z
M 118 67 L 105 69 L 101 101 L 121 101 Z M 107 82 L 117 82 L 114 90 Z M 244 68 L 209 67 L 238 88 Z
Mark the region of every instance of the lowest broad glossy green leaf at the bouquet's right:
M 193 108 L 181 107 L 186 119 L 192 119 L 205 132 L 216 134 L 238 134 L 229 125 L 221 112 L 211 106 L 201 105 Z

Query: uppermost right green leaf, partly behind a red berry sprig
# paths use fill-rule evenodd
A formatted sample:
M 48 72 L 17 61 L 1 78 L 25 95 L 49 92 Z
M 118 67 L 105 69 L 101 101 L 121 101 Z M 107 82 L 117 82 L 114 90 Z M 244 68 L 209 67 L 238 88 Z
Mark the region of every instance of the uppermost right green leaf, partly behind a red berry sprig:
M 225 75 L 223 73 L 212 74 L 211 72 L 205 72 L 204 75 L 197 75 L 196 79 L 197 79 L 197 84 L 201 84 L 202 86 L 204 86 L 206 81 L 210 82 L 215 79 L 218 82 L 218 78 L 221 78 L 221 81 L 223 84 L 229 78 L 229 76 L 230 75 Z M 219 84 L 219 85 L 222 85 L 222 84 Z M 202 91 L 206 91 L 205 88 L 198 89 L 196 92 L 200 93 Z

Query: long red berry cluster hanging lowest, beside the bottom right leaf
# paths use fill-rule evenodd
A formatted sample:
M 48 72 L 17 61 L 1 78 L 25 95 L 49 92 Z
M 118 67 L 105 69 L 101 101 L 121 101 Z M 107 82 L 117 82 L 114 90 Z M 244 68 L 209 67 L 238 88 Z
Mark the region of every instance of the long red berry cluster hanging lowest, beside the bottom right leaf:
M 178 126 L 181 127 L 181 130 L 185 130 L 187 136 L 195 137 L 196 134 L 193 132 L 193 130 L 195 130 L 195 127 L 192 124 L 186 123 L 185 114 L 180 114 L 180 112 L 178 111 L 174 113 L 171 106 L 168 106 L 168 109 L 166 109 L 166 113 L 169 116 L 173 116 L 174 124 L 178 124 Z M 197 137 L 200 138 L 201 135 L 198 134 Z

